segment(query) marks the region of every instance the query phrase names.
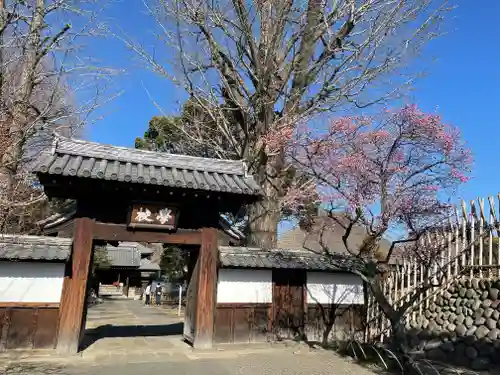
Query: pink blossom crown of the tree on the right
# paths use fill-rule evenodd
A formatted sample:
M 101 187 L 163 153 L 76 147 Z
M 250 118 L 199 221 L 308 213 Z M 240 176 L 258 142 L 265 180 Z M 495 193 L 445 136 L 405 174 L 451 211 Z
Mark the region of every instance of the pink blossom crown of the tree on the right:
M 415 105 L 341 117 L 324 133 L 285 127 L 265 142 L 286 150 L 289 162 L 313 182 L 288 190 L 289 209 L 306 201 L 351 215 L 361 209 L 367 223 L 381 228 L 388 223 L 415 230 L 437 220 L 449 209 L 442 192 L 467 182 L 472 163 L 460 132 Z

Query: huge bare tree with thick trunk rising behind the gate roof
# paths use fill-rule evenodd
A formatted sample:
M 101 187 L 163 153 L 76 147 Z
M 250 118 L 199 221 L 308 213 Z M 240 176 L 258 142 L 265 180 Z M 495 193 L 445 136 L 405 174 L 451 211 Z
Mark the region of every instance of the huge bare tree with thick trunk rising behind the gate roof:
M 221 157 L 244 159 L 266 198 L 249 209 L 250 240 L 276 245 L 288 163 L 268 136 L 315 116 L 380 103 L 412 83 L 408 62 L 440 33 L 447 1 L 145 0 L 167 50 L 121 38 L 187 91 L 216 124 L 183 132 Z M 175 61 L 162 56 L 175 56 Z M 179 69 L 178 72 L 175 69 Z M 293 124 L 292 129 L 289 125 Z M 198 124 L 203 126 L 203 124 Z M 200 137 L 201 135 L 201 137 Z

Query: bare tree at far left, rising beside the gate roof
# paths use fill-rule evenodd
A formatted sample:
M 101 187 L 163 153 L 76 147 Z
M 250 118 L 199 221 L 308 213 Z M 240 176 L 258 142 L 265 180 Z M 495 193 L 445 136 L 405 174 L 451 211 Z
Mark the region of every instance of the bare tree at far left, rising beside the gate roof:
M 105 101 L 105 81 L 114 72 L 93 65 L 81 44 L 101 29 L 100 9 L 89 4 L 0 0 L 2 230 L 20 230 L 20 218 L 45 200 L 29 167 L 52 133 L 74 135 Z

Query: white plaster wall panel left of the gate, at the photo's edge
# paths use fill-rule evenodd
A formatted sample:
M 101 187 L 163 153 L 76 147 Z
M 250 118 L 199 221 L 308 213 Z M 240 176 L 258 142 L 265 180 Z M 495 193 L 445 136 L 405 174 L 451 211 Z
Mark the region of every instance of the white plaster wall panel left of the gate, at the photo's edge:
M 63 263 L 0 262 L 0 302 L 61 300 Z

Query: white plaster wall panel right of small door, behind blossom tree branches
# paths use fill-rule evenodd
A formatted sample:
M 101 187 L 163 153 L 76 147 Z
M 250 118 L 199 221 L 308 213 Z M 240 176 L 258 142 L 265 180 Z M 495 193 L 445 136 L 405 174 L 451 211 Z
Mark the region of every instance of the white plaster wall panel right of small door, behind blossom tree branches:
M 308 272 L 307 303 L 362 305 L 363 282 L 352 274 Z

